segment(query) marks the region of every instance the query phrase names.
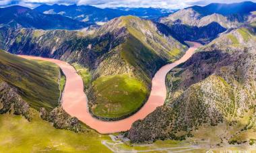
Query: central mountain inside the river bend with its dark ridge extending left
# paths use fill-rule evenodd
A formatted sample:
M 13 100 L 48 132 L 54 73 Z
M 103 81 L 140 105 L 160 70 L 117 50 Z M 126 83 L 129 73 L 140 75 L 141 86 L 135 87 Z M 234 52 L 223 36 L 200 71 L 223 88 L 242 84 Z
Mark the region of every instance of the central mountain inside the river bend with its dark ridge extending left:
M 150 93 L 155 72 L 187 48 L 160 33 L 152 21 L 134 16 L 115 18 L 87 31 L 2 28 L 1 41 L 14 54 L 58 58 L 88 68 L 92 76 L 85 89 L 89 109 L 102 119 L 119 119 L 137 111 Z

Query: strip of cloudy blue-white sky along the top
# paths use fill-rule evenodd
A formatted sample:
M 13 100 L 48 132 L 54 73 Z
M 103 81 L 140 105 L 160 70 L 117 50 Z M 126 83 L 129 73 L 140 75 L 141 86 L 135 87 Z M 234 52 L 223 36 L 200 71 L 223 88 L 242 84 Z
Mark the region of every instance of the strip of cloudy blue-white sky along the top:
M 166 9 L 182 9 L 191 5 L 207 5 L 209 3 L 236 3 L 245 0 L 0 0 L 1 7 L 22 5 L 34 8 L 38 5 L 94 5 L 96 7 L 162 7 Z M 256 2 L 256 0 L 251 0 Z

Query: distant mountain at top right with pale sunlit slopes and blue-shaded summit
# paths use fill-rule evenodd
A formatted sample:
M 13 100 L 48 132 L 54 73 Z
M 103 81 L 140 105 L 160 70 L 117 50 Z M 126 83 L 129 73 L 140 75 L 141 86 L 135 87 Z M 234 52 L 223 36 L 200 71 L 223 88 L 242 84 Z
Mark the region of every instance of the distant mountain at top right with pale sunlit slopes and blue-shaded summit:
M 236 28 L 247 22 L 255 21 L 253 11 L 256 11 L 256 3 L 253 2 L 231 4 L 212 3 L 205 7 L 193 6 L 181 9 L 168 17 L 163 17 L 160 19 L 160 22 L 167 25 L 182 23 L 197 27 L 217 22 L 224 28 Z

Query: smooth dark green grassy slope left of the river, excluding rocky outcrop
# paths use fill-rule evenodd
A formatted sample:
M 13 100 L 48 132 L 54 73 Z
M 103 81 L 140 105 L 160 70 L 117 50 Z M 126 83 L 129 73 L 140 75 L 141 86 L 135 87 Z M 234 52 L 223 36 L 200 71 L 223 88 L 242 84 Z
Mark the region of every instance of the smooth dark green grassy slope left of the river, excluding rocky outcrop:
M 51 110 L 59 105 L 59 67 L 50 62 L 26 60 L 0 50 L 0 81 L 18 89 L 30 107 Z

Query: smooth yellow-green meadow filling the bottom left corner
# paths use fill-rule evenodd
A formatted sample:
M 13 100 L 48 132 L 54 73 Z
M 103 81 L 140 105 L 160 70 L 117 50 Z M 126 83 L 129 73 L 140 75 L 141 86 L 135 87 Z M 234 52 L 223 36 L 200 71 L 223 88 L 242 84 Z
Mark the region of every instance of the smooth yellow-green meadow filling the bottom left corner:
M 32 121 L 22 116 L 0 115 L 0 152 L 110 152 L 101 144 L 108 136 L 93 130 L 75 133 L 57 130 L 33 111 Z

